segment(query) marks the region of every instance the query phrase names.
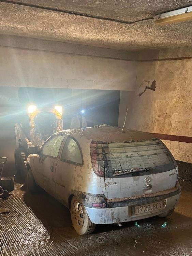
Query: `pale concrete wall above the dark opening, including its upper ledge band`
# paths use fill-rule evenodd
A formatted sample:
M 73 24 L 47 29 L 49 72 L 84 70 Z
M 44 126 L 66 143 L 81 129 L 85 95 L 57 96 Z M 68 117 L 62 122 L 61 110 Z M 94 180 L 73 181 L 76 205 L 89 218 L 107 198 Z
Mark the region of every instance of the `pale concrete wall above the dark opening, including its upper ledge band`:
M 0 34 L 0 86 L 134 90 L 137 53 Z

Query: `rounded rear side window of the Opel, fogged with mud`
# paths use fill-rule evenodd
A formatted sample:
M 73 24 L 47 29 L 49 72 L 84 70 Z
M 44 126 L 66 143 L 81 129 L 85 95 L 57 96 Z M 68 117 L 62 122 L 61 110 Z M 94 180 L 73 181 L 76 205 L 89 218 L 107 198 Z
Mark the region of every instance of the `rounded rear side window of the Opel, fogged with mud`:
M 68 138 L 64 144 L 61 160 L 77 165 L 83 165 L 82 154 L 79 145 L 72 138 Z

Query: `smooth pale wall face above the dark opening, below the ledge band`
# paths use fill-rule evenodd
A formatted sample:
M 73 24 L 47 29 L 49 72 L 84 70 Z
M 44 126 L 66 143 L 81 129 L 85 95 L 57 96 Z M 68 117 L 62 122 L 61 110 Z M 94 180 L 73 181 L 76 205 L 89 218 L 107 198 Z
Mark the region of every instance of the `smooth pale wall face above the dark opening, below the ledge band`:
M 0 47 L 0 86 L 134 90 L 136 61 Z

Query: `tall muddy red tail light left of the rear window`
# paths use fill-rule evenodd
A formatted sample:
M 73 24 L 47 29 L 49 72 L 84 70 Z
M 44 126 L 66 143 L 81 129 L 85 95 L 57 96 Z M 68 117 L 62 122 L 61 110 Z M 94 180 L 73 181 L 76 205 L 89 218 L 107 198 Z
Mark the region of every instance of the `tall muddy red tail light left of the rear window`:
M 90 146 L 90 154 L 94 173 L 99 177 L 104 177 L 102 144 L 92 141 Z

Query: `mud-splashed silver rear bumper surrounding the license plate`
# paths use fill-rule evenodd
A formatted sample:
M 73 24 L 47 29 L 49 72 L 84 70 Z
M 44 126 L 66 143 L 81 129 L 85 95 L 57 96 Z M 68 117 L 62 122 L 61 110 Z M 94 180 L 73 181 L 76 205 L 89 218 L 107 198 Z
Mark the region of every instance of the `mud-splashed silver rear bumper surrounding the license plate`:
M 137 221 L 139 219 L 145 219 L 145 218 L 159 215 L 161 213 L 167 212 L 175 208 L 180 198 L 180 191 L 181 191 L 181 188 L 179 183 L 177 182 L 177 185 L 175 187 L 175 191 L 173 194 L 167 193 L 167 194 L 162 194 L 162 196 L 148 197 L 147 202 L 146 200 L 139 200 L 139 203 L 138 203 L 138 199 L 135 199 L 135 202 L 133 199 L 130 199 L 131 201 L 129 203 L 129 199 L 127 199 L 126 201 L 129 204 L 128 206 L 101 208 L 101 209 L 90 208 L 85 206 L 85 209 L 87 211 L 87 214 L 91 222 L 95 224 L 116 224 L 116 223 L 122 223 L 122 222 Z M 131 208 L 134 205 L 136 206 L 136 205 L 141 205 L 145 203 L 152 203 L 160 200 L 166 201 L 166 206 L 163 210 L 159 210 L 156 212 L 143 213 L 139 215 L 131 215 Z

